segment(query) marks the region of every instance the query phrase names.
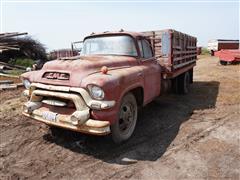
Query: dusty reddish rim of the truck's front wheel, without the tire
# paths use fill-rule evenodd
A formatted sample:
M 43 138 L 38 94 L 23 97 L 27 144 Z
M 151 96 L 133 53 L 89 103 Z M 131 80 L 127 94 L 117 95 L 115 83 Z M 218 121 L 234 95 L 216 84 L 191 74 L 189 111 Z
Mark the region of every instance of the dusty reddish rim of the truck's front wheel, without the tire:
M 136 107 L 126 102 L 121 106 L 120 117 L 119 117 L 119 130 L 122 134 L 128 133 L 134 124 L 136 116 Z

